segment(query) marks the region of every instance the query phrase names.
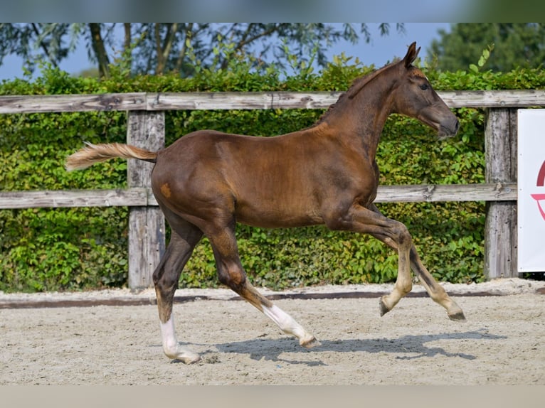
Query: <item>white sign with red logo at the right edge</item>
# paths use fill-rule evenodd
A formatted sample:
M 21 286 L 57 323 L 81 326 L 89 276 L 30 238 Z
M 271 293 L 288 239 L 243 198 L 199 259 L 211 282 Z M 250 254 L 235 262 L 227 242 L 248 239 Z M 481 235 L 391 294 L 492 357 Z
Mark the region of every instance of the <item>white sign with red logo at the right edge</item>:
M 545 271 L 545 109 L 519 109 L 519 272 Z

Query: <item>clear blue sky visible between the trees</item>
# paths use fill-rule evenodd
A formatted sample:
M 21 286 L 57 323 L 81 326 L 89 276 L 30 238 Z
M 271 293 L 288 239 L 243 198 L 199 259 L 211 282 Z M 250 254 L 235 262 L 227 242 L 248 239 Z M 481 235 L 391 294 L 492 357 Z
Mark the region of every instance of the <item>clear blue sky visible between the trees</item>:
M 358 57 L 365 65 L 374 64 L 381 67 L 394 57 L 403 57 L 407 46 L 413 41 L 417 42 L 420 50 L 420 57 L 426 57 L 426 48 L 429 47 L 434 38 L 439 38 L 438 30 L 443 28 L 449 30 L 451 23 L 406 23 L 405 33 L 397 33 L 395 23 L 391 24 L 390 34 L 380 36 L 378 23 L 368 23 L 371 32 L 371 42 L 366 43 L 360 40 L 357 44 L 342 41 L 332 46 L 328 58 L 344 52 L 347 56 Z M 0 80 L 9 80 L 14 77 L 23 77 L 23 60 L 14 55 L 4 58 L 0 65 Z M 82 70 L 92 67 L 88 60 L 85 45 L 81 45 L 69 58 L 60 63 L 60 69 L 70 74 L 80 73 Z

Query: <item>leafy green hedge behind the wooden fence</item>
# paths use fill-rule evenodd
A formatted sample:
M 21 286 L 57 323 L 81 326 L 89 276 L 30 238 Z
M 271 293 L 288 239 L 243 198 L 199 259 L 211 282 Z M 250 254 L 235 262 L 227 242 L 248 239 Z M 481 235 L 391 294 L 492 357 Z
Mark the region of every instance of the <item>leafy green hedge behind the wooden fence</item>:
M 4 81 L 0 95 L 102 92 L 346 90 L 354 77 L 374 67 L 336 58 L 320 73 L 311 69 L 283 78 L 274 68 L 257 74 L 251 61 L 233 58 L 227 70 L 129 77 L 122 65 L 112 78 L 70 77 L 46 68 L 33 81 Z M 437 90 L 537 89 L 539 70 L 512 73 L 437 73 Z M 166 113 L 166 144 L 197 129 L 270 136 L 313 124 L 323 111 L 181 111 Z M 480 109 L 456 109 L 459 136 L 437 141 L 435 132 L 393 115 L 383 131 L 377 161 L 383 184 L 481 183 L 484 124 Z M 92 143 L 125 142 L 125 112 L 0 115 L 0 190 L 123 188 L 125 161 L 100 163 L 67 173 L 65 156 Z M 393 203 L 383 213 L 404 222 L 423 262 L 439 280 L 482 281 L 484 203 Z M 100 289 L 127 282 L 127 208 L 0 210 L 0 290 Z M 387 282 L 396 277 L 397 255 L 371 237 L 324 227 L 265 230 L 240 225 L 240 254 L 257 286 L 282 289 L 312 284 Z M 181 287 L 218 286 L 206 239 L 196 248 Z

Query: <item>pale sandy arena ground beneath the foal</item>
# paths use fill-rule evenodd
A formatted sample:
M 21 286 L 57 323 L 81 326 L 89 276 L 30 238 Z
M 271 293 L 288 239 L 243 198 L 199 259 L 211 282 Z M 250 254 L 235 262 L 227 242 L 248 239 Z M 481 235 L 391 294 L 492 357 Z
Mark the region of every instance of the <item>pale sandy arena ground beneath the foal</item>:
M 0 293 L 0 385 L 545 385 L 545 282 L 444 286 L 466 323 L 418 296 L 381 318 L 391 285 L 282 292 L 328 298 L 275 300 L 321 341 L 310 350 L 231 291 L 179 290 L 194 365 L 162 353 L 153 291 Z

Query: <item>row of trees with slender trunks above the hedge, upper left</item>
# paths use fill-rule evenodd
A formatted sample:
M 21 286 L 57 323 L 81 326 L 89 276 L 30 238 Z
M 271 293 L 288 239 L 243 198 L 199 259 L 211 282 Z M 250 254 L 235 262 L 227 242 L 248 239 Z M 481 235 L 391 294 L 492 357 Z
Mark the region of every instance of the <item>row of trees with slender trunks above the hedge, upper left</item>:
M 403 24 L 396 24 L 396 30 L 403 32 Z M 381 35 L 389 31 L 388 23 L 379 25 Z M 284 66 L 286 44 L 298 58 L 315 55 L 324 66 L 329 46 L 341 39 L 356 43 L 360 36 L 371 39 L 366 23 L 359 30 L 351 23 L 0 23 L 0 64 L 11 53 L 25 58 L 31 72 L 44 57 L 57 65 L 83 38 L 101 76 L 108 76 L 112 60 L 122 57 L 133 73 L 176 71 L 186 77 L 196 63 L 225 68 L 228 60 L 218 50 L 226 45 L 234 53 L 255 55 L 260 68 L 270 61 Z

